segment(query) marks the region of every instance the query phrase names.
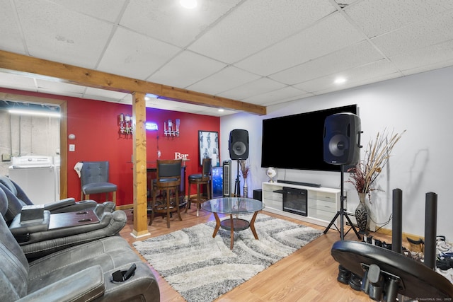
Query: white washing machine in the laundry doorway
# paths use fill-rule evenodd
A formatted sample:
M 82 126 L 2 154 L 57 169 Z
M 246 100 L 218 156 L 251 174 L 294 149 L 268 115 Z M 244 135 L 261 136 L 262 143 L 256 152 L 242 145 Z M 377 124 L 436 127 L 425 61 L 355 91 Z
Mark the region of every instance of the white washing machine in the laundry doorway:
M 48 204 L 59 199 L 52 156 L 12 157 L 8 176 L 27 194 L 33 204 Z

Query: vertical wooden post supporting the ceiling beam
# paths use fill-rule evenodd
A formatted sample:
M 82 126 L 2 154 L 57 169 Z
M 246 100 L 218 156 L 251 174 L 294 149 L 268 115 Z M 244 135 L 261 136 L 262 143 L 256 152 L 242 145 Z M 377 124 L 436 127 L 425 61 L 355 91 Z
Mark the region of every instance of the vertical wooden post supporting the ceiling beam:
M 149 235 L 147 215 L 147 107 L 145 93 L 132 93 L 132 165 L 134 166 L 134 229 L 132 236 Z

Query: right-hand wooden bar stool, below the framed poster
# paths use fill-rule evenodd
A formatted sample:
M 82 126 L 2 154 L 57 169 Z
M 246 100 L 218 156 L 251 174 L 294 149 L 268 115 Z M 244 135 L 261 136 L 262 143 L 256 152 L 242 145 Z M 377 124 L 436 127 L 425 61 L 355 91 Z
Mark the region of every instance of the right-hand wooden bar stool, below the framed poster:
M 210 185 L 211 170 L 212 170 L 211 158 L 203 158 L 202 173 L 189 175 L 189 190 L 187 195 L 187 204 L 185 205 L 185 213 L 187 213 L 187 209 L 190 207 L 190 204 L 194 202 L 197 204 L 197 216 L 198 216 L 201 204 L 211 199 L 211 185 Z M 197 185 L 197 195 L 194 197 L 190 197 L 191 185 Z M 202 197 L 200 185 L 206 185 L 207 198 Z

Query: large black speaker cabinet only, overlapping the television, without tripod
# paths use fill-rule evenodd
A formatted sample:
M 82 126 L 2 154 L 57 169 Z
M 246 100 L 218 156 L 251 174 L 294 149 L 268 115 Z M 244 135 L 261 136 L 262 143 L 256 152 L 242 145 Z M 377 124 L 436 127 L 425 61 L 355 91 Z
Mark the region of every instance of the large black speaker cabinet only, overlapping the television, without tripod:
M 355 165 L 360 160 L 360 117 L 352 113 L 329 115 L 324 121 L 324 161 Z

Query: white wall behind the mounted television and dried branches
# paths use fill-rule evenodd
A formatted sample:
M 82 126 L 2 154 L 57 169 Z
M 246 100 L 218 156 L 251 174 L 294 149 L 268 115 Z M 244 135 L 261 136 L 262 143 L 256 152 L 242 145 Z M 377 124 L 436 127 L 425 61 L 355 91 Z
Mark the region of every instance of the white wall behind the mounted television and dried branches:
M 453 187 L 453 67 L 270 106 L 265 116 L 238 113 L 222 117 L 222 161 L 229 158 L 229 132 L 247 129 L 251 165 L 248 192 L 251 197 L 252 191 L 261 187 L 261 182 L 268 181 L 266 168 L 260 167 L 263 119 L 350 104 L 357 104 L 359 108 L 363 146 L 385 128 L 398 133 L 407 130 L 396 144 L 389 165 L 379 176 L 382 191 L 372 194 L 373 219 L 378 223 L 389 220 L 392 190 L 400 188 L 403 190 L 403 232 L 424 236 L 425 194 L 435 192 L 438 195 L 437 234 L 453 241 L 453 194 L 450 192 Z M 295 132 L 294 139 L 303 140 L 303 137 Z M 303 156 L 304 149 L 293 152 L 282 150 L 282 156 L 293 156 L 297 161 L 297 157 Z M 236 161 L 233 162 L 233 173 L 236 175 Z M 277 173 L 278 179 L 340 187 L 340 173 L 284 169 Z M 353 211 L 358 203 L 357 193 L 348 183 L 345 183 L 345 190 L 348 210 Z M 391 228 L 391 222 L 384 228 Z

